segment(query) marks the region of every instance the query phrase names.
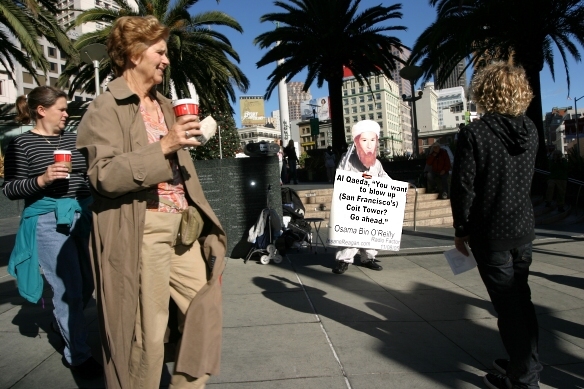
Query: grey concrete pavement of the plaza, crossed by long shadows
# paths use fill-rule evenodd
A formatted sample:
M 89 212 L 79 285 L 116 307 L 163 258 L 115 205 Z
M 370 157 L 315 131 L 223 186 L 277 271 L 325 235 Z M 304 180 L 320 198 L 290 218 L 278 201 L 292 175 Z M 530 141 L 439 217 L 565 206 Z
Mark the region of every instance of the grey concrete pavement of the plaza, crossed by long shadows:
M 0 388 L 104 387 L 62 365 L 50 289 L 44 308 L 29 304 L 7 275 L 18 221 L 0 219 Z M 452 233 L 406 229 L 401 251 L 378 256 L 381 272 L 332 274 L 330 248 L 291 251 L 281 264 L 229 259 L 222 368 L 208 387 L 484 388 L 482 375 L 505 352 L 478 272 L 454 276 L 446 263 Z M 583 233 L 584 224 L 537 230 L 530 284 L 542 388 L 584 387 Z M 100 358 L 95 307 L 86 313 Z

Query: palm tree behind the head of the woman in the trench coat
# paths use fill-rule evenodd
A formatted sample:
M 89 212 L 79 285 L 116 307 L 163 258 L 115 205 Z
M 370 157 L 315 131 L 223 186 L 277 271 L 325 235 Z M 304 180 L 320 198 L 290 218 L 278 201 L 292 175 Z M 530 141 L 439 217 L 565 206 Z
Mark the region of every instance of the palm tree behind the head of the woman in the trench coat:
M 75 25 L 88 22 L 103 22 L 106 28 L 82 35 L 75 42 L 75 48 L 82 52 L 92 43 L 105 44 L 111 25 L 122 16 L 154 15 L 170 28 L 168 39 L 168 67 L 164 81 L 159 85 L 162 94 L 170 97 L 174 88 L 179 98 L 191 97 L 188 84 L 191 83 L 199 96 L 199 104 L 215 106 L 224 112 L 232 112 L 230 101 L 235 101 L 234 87 L 246 91 L 249 80 L 231 59 L 239 62 L 239 55 L 229 40 L 212 26 L 227 26 L 243 32 L 239 23 L 231 16 L 217 11 L 189 15 L 189 9 L 198 0 L 179 0 L 170 4 L 169 0 L 138 0 L 138 9 L 132 8 L 126 0 L 114 0 L 119 10 L 93 8 L 81 13 Z M 219 1 L 217 1 L 219 2 Z M 112 74 L 109 58 L 101 61 L 99 77 L 104 80 Z M 66 85 L 73 77 L 69 94 L 76 89 L 95 93 L 93 65 L 69 61 L 59 78 L 59 85 Z

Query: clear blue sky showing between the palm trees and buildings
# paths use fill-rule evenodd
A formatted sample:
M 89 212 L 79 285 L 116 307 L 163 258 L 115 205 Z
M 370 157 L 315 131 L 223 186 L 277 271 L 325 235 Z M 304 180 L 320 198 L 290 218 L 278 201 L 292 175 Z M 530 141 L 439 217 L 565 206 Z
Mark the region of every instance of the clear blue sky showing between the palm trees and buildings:
M 286 0 L 282 1 L 286 2 Z M 379 4 L 389 5 L 395 3 L 388 2 L 387 0 L 362 0 L 360 9 Z M 401 39 L 403 44 L 411 47 L 421 32 L 435 20 L 436 12 L 434 8 L 430 7 L 428 0 L 404 0 L 401 4 L 403 18 L 401 20 L 394 19 L 392 24 L 403 25 L 408 29 L 406 31 L 396 31 L 394 35 Z M 270 12 L 282 12 L 282 8 L 274 6 L 273 0 L 220 0 L 219 4 L 215 0 L 199 0 L 191 8 L 191 13 L 210 10 L 219 10 L 231 15 L 243 27 L 243 34 L 229 29 L 218 29 L 229 38 L 231 44 L 238 52 L 241 60 L 239 66 L 250 80 L 251 85 L 245 95 L 263 95 L 268 86 L 267 76 L 271 73 L 273 67 L 264 66 L 260 69 L 256 67 L 256 62 L 265 54 L 265 51 L 255 46 L 253 40 L 259 34 L 275 28 L 272 23 L 260 23 L 260 17 Z M 584 51 L 582 55 L 584 57 Z M 583 96 L 584 64 L 582 62 L 575 63 L 570 58 L 569 70 L 571 78 L 570 95 L 573 97 Z M 551 110 L 552 107 L 574 106 L 574 102 L 567 99 L 568 88 L 566 74 L 559 53 L 555 54 L 555 73 L 556 77 L 554 82 L 547 66 L 541 72 L 541 92 L 544 112 Z M 304 82 L 304 80 L 305 74 L 301 74 L 293 81 Z M 328 95 L 326 84 L 323 85 L 322 89 L 318 89 L 316 84 L 313 84 L 310 87 L 310 92 L 313 97 Z M 236 112 L 235 120 L 237 126 L 241 124 L 239 119 L 239 96 L 242 94 L 240 91 L 237 91 L 238 100 L 232 104 Z M 581 107 L 584 108 L 584 99 L 582 101 L 579 100 L 578 103 L 581 103 Z M 272 111 L 277 109 L 278 93 L 276 90 L 272 93 L 270 99 L 266 101 L 266 115 L 269 116 Z

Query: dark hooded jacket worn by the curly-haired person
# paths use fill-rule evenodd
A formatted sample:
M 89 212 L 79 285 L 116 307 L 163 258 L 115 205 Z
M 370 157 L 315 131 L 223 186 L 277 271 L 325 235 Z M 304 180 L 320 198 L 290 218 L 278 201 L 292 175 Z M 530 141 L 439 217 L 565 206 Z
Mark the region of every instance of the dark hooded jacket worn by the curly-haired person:
M 486 114 L 458 134 L 450 203 L 457 237 L 509 250 L 535 238 L 530 199 L 537 129 L 526 116 Z

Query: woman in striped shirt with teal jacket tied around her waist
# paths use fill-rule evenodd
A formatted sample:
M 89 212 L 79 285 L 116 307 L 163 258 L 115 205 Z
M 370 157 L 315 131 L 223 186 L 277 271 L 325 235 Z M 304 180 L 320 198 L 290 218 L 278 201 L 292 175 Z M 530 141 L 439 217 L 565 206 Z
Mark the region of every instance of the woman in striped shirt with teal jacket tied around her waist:
M 34 128 L 14 138 L 5 155 L 4 195 L 24 200 L 8 272 L 32 303 L 42 297 L 43 279 L 53 291 L 52 328 L 64 343 L 64 364 L 82 378 L 103 375 L 91 355 L 83 310 L 93 293 L 89 262 L 91 196 L 87 165 L 65 132 L 67 94 L 51 86 L 34 88 L 16 100 L 16 121 Z M 71 168 L 54 152 L 71 153 Z

